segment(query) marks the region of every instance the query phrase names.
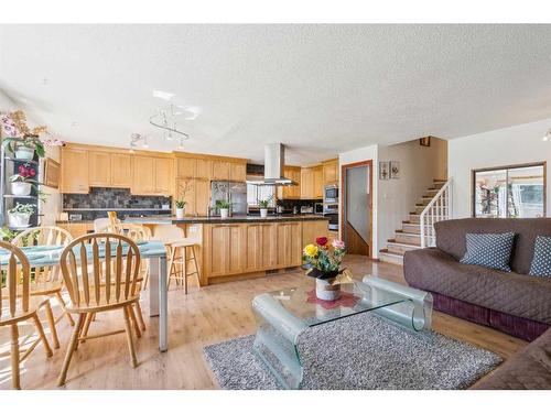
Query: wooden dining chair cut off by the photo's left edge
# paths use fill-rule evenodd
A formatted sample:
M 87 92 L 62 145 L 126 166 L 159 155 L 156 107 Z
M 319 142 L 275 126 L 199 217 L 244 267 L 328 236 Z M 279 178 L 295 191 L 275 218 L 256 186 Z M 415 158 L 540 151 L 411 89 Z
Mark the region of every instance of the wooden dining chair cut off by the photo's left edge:
M 6 285 L 0 287 L 0 327 L 11 329 L 11 383 L 14 389 L 21 389 L 20 363 L 42 343 L 46 357 L 52 357 L 52 349 L 47 343 L 39 318 L 37 311 L 46 309 L 50 328 L 55 328 L 52 307 L 47 296 L 31 296 L 31 271 L 29 260 L 18 247 L 0 241 L 0 273 Z M 39 334 L 26 349 L 21 349 L 19 339 L 19 324 L 32 319 Z

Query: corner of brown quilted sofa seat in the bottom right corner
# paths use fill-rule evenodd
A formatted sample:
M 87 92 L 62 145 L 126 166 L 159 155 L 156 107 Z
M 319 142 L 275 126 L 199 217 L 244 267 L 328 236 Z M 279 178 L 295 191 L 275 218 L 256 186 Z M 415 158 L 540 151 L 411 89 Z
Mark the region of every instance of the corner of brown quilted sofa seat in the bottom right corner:
M 551 328 L 483 378 L 473 389 L 551 389 Z

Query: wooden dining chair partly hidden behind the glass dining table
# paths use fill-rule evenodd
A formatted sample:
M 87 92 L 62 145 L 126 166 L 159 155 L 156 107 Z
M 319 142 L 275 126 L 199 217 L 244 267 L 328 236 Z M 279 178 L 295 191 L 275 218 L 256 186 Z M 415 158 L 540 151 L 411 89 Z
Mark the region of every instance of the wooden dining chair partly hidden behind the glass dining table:
M 31 246 L 60 246 L 64 247 L 73 241 L 71 233 L 60 227 L 44 226 L 36 228 L 29 228 L 19 233 L 12 241 L 17 247 L 31 247 Z M 35 267 L 31 269 L 34 275 L 31 279 L 31 295 L 46 295 L 51 298 L 56 298 L 62 314 L 55 319 L 55 324 L 60 323 L 65 316 L 68 323 L 74 326 L 75 322 L 69 313 L 65 311 L 65 300 L 63 300 L 63 278 L 61 274 L 60 265 Z M 54 348 L 60 348 L 60 340 L 57 338 L 57 330 L 52 330 L 52 339 Z

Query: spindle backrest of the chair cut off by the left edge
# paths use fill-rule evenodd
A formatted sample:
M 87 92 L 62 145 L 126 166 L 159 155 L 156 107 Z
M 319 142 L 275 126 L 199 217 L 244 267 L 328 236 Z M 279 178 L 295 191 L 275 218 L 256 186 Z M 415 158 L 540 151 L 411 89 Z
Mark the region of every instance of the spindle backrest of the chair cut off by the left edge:
M 2 252 L 0 256 L 0 274 L 2 276 L 0 320 L 4 320 L 29 311 L 31 272 L 29 260 L 18 247 L 0 241 L 0 251 Z

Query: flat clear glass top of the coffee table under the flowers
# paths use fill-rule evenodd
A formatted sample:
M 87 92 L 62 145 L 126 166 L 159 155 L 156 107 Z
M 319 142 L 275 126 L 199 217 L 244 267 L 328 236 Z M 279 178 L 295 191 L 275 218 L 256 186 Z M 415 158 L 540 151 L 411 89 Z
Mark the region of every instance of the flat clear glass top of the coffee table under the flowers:
M 312 286 L 267 294 L 279 304 L 276 308 L 290 313 L 310 327 L 408 301 L 403 295 L 372 289 L 359 281 L 343 284 L 341 297 L 335 301 L 317 298 L 315 282 Z

